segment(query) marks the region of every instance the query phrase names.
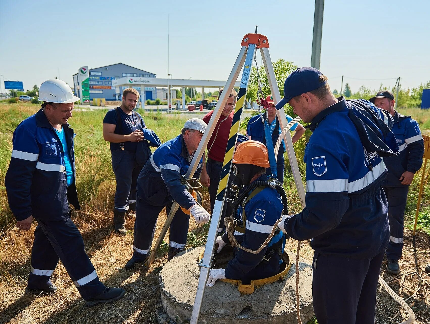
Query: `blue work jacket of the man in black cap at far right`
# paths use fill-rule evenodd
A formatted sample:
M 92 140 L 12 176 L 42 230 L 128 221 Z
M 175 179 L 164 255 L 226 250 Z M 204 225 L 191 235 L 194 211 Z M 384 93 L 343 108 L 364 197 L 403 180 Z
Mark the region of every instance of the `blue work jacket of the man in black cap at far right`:
M 392 131 L 399 144 L 400 154 L 384 159 L 388 176 L 383 185 L 401 187 L 403 185 L 399 179 L 402 173 L 405 171 L 415 173 L 423 164 L 424 140 L 417 121 L 413 120 L 411 116 L 403 116 L 396 111 L 393 119 Z

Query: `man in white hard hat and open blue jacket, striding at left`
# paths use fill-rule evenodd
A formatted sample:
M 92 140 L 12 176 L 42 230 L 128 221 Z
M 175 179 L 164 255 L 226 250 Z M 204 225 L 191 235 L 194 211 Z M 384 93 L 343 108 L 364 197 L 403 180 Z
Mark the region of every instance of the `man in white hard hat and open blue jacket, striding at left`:
M 54 293 L 51 276 L 60 259 L 86 305 L 113 302 L 122 288 L 107 288 L 94 266 L 74 222 L 69 204 L 80 209 L 76 191 L 74 96 L 61 80 L 47 80 L 39 88 L 42 109 L 22 121 L 13 133 L 13 150 L 5 185 L 9 207 L 24 231 L 37 221 L 31 251 L 31 271 L 25 293 Z

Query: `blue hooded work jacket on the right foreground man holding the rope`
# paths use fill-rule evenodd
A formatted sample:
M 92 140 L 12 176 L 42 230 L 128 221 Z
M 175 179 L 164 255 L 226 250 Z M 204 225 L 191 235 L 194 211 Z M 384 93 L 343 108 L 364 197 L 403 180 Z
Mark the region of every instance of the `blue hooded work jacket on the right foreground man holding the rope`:
M 283 223 L 291 238 L 312 239 L 322 254 L 358 259 L 385 249 L 388 204 L 381 184 L 388 171 L 380 155 L 398 150 L 387 124 L 390 116 L 371 102 L 343 97 L 313 119 L 304 155 L 306 207 Z

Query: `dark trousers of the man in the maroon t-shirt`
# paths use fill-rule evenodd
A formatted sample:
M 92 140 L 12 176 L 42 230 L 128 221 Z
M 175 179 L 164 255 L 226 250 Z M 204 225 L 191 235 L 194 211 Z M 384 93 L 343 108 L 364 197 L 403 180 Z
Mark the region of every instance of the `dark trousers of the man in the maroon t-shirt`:
M 222 162 L 214 161 L 212 159 L 208 159 L 206 162 L 206 172 L 208 173 L 210 179 L 209 185 L 209 198 L 211 200 L 211 215 L 214 211 L 214 205 L 216 201 L 216 194 L 218 191 L 219 181 L 221 179 L 221 170 L 222 170 Z M 231 187 L 232 176 L 230 175 L 230 179 L 228 180 L 227 185 L 227 194 L 226 197 L 230 195 L 230 187 Z M 218 225 L 218 233 L 222 231 L 224 227 L 224 218 L 225 216 L 230 216 L 233 213 L 233 209 L 230 204 L 224 202 L 224 207 L 221 214 L 221 220 Z

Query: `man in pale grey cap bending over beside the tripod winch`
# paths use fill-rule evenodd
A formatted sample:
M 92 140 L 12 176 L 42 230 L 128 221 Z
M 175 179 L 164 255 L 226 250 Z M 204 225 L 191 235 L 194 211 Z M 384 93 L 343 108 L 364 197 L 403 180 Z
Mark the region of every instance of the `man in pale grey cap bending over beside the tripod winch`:
M 188 167 L 206 130 L 206 123 L 191 118 L 184 124 L 181 135 L 160 145 L 144 165 L 137 180 L 136 219 L 134 226 L 133 256 L 124 268 L 129 270 L 136 263 L 146 261 L 154 238 L 155 225 L 161 210 L 169 214 L 175 200 L 184 210 L 194 216 L 197 224 L 208 223 L 209 213 L 182 184 L 182 176 Z M 200 159 L 194 178 L 199 178 L 203 158 Z M 170 224 L 169 254 L 172 259 L 185 249 L 190 215 L 181 208 Z

